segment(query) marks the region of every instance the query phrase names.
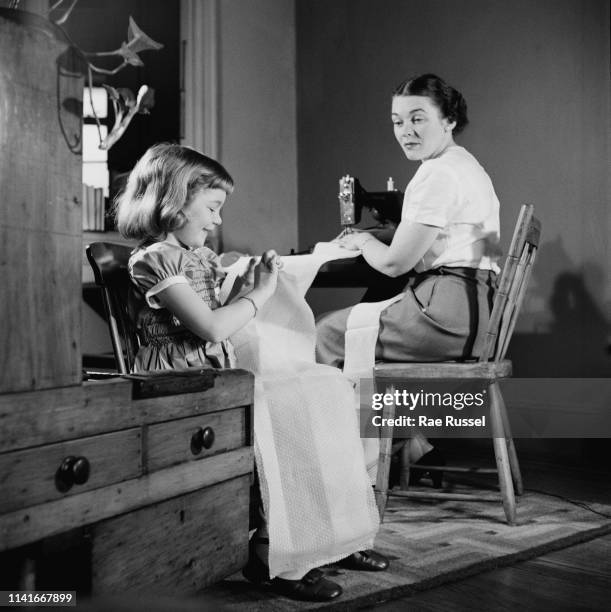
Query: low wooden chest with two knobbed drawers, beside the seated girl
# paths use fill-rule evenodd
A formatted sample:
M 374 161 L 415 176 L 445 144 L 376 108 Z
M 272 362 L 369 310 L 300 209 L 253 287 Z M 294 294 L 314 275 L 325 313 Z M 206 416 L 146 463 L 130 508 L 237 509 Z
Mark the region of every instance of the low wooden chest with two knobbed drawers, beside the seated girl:
M 253 377 L 0 395 L 0 551 L 85 527 L 94 594 L 196 592 L 247 559 Z

